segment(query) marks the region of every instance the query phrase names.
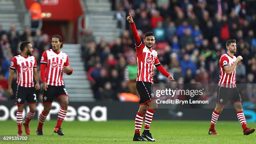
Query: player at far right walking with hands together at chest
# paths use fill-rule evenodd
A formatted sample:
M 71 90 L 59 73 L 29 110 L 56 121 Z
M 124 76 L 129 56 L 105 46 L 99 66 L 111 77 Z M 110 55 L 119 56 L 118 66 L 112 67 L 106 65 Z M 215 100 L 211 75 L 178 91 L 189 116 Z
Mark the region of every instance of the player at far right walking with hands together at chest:
M 248 128 L 246 125 L 246 118 L 243 114 L 243 107 L 241 104 L 241 96 L 236 87 L 236 65 L 243 58 L 242 56 L 234 56 L 236 53 L 236 40 L 228 40 L 226 42 L 227 53 L 220 57 L 220 81 L 218 83 L 217 104 L 212 113 L 211 125 L 209 134 L 218 135 L 215 131 L 215 124 L 220 116 L 225 104 L 230 101 L 236 109 L 237 118 L 240 121 L 243 134 L 248 135 L 255 131 L 255 129 Z

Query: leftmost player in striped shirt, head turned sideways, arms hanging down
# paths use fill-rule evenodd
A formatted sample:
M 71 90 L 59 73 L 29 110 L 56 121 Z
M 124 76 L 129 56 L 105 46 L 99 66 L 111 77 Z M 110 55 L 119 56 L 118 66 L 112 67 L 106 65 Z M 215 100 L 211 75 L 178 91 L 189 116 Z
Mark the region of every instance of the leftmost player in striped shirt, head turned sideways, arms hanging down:
M 22 53 L 13 57 L 10 64 L 10 73 L 8 76 L 8 94 L 13 95 L 12 81 L 13 73 L 16 70 L 18 74 L 17 78 L 17 91 L 16 102 L 18 111 L 16 114 L 18 124 L 18 135 L 22 135 L 22 121 L 23 121 L 23 109 L 25 100 L 29 106 L 26 121 L 23 123 L 26 134 L 30 134 L 29 122 L 35 116 L 36 113 L 36 90 L 40 89 L 39 76 L 36 68 L 36 58 L 32 56 L 33 47 L 30 42 L 23 41 L 20 43 L 20 50 Z M 36 81 L 36 84 L 33 81 Z

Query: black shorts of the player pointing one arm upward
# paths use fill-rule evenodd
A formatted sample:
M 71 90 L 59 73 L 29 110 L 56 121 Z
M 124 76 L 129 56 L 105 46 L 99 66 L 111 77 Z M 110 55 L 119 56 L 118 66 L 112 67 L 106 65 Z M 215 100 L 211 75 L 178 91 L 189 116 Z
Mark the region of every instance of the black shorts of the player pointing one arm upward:
M 145 81 L 137 81 L 136 88 L 140 95 L 140 102 L 139 104 L 145 104 L 152 100 L 156 100 L 154 91 L 153 91 L 153 83 L 145 82 Z

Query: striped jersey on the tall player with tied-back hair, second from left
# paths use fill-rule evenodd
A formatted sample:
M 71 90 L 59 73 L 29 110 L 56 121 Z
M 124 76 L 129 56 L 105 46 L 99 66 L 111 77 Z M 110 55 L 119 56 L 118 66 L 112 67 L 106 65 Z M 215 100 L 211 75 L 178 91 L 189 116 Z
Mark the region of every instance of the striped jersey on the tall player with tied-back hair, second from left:
M 41 64 L 46 64 L 46 82 L 51 86 L 64 86 L 63 67 L 69 66 L 69 57 L 60 51 L 55 53 L 52 49 L 44 51 Z

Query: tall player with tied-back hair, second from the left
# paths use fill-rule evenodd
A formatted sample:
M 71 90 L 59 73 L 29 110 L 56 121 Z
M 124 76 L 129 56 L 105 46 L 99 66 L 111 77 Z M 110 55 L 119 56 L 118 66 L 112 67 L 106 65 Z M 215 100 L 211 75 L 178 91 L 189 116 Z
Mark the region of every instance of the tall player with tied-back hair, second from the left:
M 58 113 L 58 121 L 54 132 L 63 136 L 61 129 L 62 121 L 67 115 L 69 104 L 67 89 L 63 82 L 63 73 L 71 75 L 73 68 L 69 66 L 69 56 L 61 51 L 63 46 L 60 35 L 54 35 L 51 39 L 52 49 L 44 51 L 41 57 L 41 81 L 43 83 L 43 103 L 44 110 L 39 116 L 39 124 L 36 130 L 37 135 L 43 135 L 43 124 L 51 110 L 51 103 L 56 97 L 61 102 Z

